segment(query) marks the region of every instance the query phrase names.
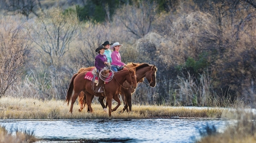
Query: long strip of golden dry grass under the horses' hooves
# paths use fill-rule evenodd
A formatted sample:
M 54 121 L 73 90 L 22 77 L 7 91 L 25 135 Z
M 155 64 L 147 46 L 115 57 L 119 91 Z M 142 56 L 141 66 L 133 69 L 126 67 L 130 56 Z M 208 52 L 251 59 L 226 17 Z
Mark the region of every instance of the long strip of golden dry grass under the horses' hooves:
M 103 110 L 100 104 L 93 104 L 93 113 L 89 114 L 85 110 L 79 112 L 79 105 L 75 103 L 73 114 L 69 114 L 69 107 L 64 101 L 49 100 L 40 101 L 32 98 L 0 98 L 0 119 L 108 119 L 109 116 Z M 123 108 L 118 108 L 113 112 L 112 119 L 147 119 L 147 118 L 171 118 L 179 116 L 180 118 L 221 118 L 232 112 L 220 108 L 187 108 L 170 107 L 156 105 L 133 105 L 133 112 L 128 114 L 124 112 L 119 114 Z M 222 116 L 225 115 L 225 116 Z

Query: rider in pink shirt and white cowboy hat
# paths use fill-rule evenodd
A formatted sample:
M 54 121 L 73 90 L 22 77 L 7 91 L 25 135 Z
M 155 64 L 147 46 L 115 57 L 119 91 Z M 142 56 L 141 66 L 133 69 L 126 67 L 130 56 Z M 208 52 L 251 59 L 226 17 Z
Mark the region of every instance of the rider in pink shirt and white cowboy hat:
M 120 47 L 122 45 L 119 44 L 119 42 L 115 42 L 110 49 L 113 50 L 112 54 L 111 54 L 111 58 L 112 58 L 112 70 L 117 72 L 117 71 L 121 71 L 123 70 L 123 66 L 126 66 L 125 63 L 121 62 L 121 56 L 119 54 L 119 50 Z

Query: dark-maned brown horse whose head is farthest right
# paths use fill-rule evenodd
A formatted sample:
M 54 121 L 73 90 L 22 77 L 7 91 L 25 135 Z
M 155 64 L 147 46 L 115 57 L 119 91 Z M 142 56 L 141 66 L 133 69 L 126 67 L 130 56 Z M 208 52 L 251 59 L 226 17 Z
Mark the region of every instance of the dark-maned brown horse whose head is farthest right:
M 155 87 L 157 68 L 154 65 L 142 63 L 142 64 L 139 64 L 139 66 L 136 66 L 130 69 L 133 69 L 136 71 L 137 83 L 143 82 L 143 78 L 146 77 L 149 83 L 148 85 L 151 87 Z M 129 110 L 127 112 L 131 112 L 131 95 L 132 93 L 135 92 L 135 88 L 129 88 L 129 86 L 130 84 L 125 82 L 122 84 L 121 90 L 119 91 L 119 94 L 122 95 L 122 99 L 125 98 L 125 107 L 123 107 L 123 109 L 120 112 L 125 111 L 127 107 L 129 107 Z M 113 99 L 118 102 L 117 106 L 115 106 L 115 108 L 112 109 L 112 111 L 115 111 L 121 105 L 121 102 L 118 97 L 118 94 L 115 94 L 113 96 Z M 88 103 L 87 98 L 85 98 L 84 100 L 85 100 L 84 103 L 85 102 Z M 105 109 L 106 107 L 108 107 L 108 102 L 106 102 L 106 106 L 105 106 L 102 98 L 99 98 L 99 102 L 102 108 Z M 88 108 L 88 111 L 89 111 L 89 108 Z

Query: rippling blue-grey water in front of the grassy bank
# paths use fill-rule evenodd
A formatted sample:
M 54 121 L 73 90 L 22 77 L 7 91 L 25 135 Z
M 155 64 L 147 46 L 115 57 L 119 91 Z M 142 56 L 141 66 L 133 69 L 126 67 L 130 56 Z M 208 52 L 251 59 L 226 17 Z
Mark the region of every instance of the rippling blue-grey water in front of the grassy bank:
M 34 131 L 38 142 L 195 142 L 200 131 L 214 126 L 223 131 L 227 121 L 203 119 L 131 120 L 0 120 L 12 128 Z

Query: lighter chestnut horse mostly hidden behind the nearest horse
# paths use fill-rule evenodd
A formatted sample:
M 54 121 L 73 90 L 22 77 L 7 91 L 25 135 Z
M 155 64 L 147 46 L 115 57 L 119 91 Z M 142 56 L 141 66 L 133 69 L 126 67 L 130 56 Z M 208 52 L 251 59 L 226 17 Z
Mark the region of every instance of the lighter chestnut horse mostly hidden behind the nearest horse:
M 126 68 L 129 69 L 129 68 L 132 68 L 132 67 L 135 67 L 135 66 L 138 66 L 138 65 L 139 65 L 139 63 L 127 63 Z M 81 72 L 84 72 L 84 71 L 92 71 L 94 68 L 96 68 L 96 67 L 80 68 L 80 70 L 77 73 L 81 73 Z M 102 103 L 100 100 L 104 100 L 104 98 L 98 98 L 98 101 L 100 103 Z M 85 96 L 84 92 L 81 92 L 79 94 L 78 101 L 79 101 L 79 105 L 80 105 L 79 112 L 81 112 L 82 109 L 84 109 L 84 107 L 85 107 L 84 102 L 86 101 L 86 96 Z M 122 101 L 123 101 L 123 103 L 125 103 L 125 99 L 123 97 L 122 97 Z M 105 110 L 106 108 L 104 106 L 104 103 L 103 103 L 102 107 L 103 107 L 104 111 L 106 112 L 106 110 Z M 87 111 L 90 112 L 89 109 Z

